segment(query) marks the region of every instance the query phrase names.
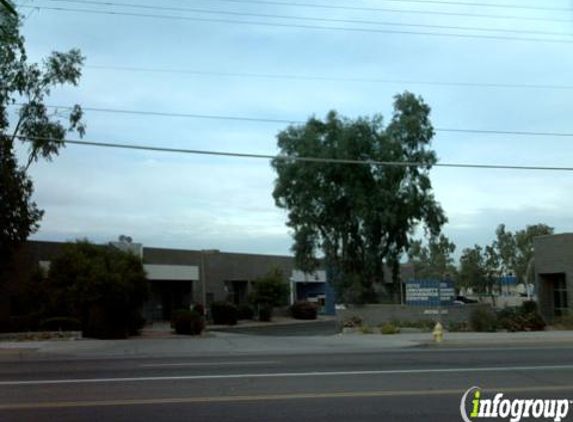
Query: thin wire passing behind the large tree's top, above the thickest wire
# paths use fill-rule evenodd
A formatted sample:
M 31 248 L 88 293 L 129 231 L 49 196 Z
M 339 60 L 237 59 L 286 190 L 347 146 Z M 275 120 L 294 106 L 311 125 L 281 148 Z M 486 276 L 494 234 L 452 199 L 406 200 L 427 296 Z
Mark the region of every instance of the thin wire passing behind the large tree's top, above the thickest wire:
M 23 104 L 16 104 L 22 106 Z M 47 105 L 49 108 L 72 109 L 69 106 Z M 298 119 L 275 119 L 264 117 L 247 117 L 247 116 L 225 116 L 217 114 L 197 114 L 197 113 L 168 113 L 151 110 L 126 110 L 118 108 L 99 108 L 99 107 L 83 107 L 82 110 L 93 111 L 97 113 L 117 113 L 117 114 L 133 114 L 143 116 L 157 116 L 157 117 L 180 117 L 191 119 L 208 119 L 208 120 L 235 120 L 243 122 L 260 122 L 260 123 L 280 123 L 280 124 L 304 124 L 304 120 Z M 456 133 L 481 133 L 489 135 L 518 135 L 518 136 L 555 136 L 555 137 L 573 137 L 573 133 L 567 132 L 534 132 L 534 131 L 515 131 L 515 130 L 487 130 L 487 129 L 463 129 L 463 128 L 435 128 L 436 132 L 456 132 Z

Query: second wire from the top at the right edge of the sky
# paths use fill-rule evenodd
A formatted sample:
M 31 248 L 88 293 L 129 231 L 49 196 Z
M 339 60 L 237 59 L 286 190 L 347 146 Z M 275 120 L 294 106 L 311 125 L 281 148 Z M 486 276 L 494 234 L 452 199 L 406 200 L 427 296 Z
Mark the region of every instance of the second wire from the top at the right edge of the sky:
M 315 4 L 315 3 L 299 3 L 299 2 L 286 2 L 278 0 L 212 0 L 225 3 L 249 3 L 249 4 L 269 4 L 277 6 L 293 6 L 304 7 L 312 9 L 332 9 L 332 10 L 355 10 L 365 12 L 388 12 L 388 13 L 402 13 L 414 15 L 435 15 L 435 16 L 456 16 L 456 17 L 470 17 L 470 18 L 490 18 L 490 19 L 510 19 L 510 20 L 523 20 L 523 21 L 538 21 L 538 22 L 564 22 L 570 23 L 570 19 L 556 19 L 556 18 L 543 18 L 531 16 L 515 16 L 515 15 L 494 15 L 483 13 L 463 13 L 463 12 L 445 12 L 445 11 L 429 11 L 429 10 L 405 10 L 405 9 L 388 9 L 379 7 L 362 7 L 362 6 L 335 6 L 332 4 Z

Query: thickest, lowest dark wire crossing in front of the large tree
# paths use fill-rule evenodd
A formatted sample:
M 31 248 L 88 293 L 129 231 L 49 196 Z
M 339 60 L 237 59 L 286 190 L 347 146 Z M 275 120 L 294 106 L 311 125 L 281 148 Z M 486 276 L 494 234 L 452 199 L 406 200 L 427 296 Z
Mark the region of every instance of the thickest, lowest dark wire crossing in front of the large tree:
M 470 164 L 470 163 L 436 163 L 433 165 L 428 165 L 427 163 L 420 162 L 402 162 L 402 161 L 378 161 L 378 160 L 351 160 L 351 159 L 338 159 L 338 158 L 320 158 L 320 157 L 306 157 L 306 156 L 287 156 L 287 155 L 269 155 L 269 154 L 251 154 L 251 153 L 241 153 L 241 152 L 229 152 L 229 151 L 212 151 L 212 150 L 197 150 L 197 149 L 183 149 L 183 148 L 167 148 L 167 147 L 157 147 L 150 145 L 138 145 L 138 144 L 119 144 L 110 142 L 97 142 L 97 141 L 79 141 L 71 139 L 55 139 L 49 137 L 39 137 L 39 136 L 21 136 L 17 135 L 18 138 L 24 142 L 31 142 L 34 140 L 43 140 L 50 142 L 59 142 L 61 144 L 71 144 L 71 145 L 82 145 L 82 146 L 93 146 L 101 148 L 118 148 L 118 149 L 129 149 L 129 150 L 140 150 L 140 151 L 152 151 L 152 152 L 165 152 L 165 153 L 177 153 L 177 154 L 193 154 L 193 155 L 208 155 L 216 157 L 232 157 L 232 158 L 254 158 L 263 160 L 281 160 L 281 161 L 300 161 L 300 162 L 312 162 L 312 163 L 324 163 L 324 164 L 352 164 L 352 165 L 377 165 L 386 167 L 446 167 L 446 168 L 466 168 L 466 169 L 488 169 L 488 170 L 539 170 L 539 171 L 573 171 L 573 167 L 545 167 L 545 166 L 515 166 L 515 165 L 501 165 L 501 164 Z

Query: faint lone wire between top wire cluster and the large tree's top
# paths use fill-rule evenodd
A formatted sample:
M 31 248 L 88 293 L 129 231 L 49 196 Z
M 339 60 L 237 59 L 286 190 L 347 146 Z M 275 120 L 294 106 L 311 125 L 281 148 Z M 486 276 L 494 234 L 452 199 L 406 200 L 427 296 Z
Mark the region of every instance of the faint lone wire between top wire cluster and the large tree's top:
M 570 90 L 573 85 L 542 85 L 542 84 L 510 84 L 510 83 L 487 83 L 487 82 L 447 82 L 447 81 L 422 81 L 408 79 L 376 79 L 376 78 L 344 78 L 319 75 L 293 75 L 278 73 L 241 73 L 241 72 L 218 72 L 195 69 L 168 69 L 154 67 L 136 66 L 106 66 L 106 65 L 86 65 L 87 69 L 117 70 L 122 72 L 149 72 L 149 73 L 176 73 L 201 76 L 224 76 L 239 78 L 266 78 L 266 79 L 290 79 L 307 81 L 332 81 L 332 82 L 364 82 L 381 84 L 411 84 L 411 85 L 432 85 L 432 86 L 456 86 L 475 88 L 511 88 L 511 89 L 556 89 Z

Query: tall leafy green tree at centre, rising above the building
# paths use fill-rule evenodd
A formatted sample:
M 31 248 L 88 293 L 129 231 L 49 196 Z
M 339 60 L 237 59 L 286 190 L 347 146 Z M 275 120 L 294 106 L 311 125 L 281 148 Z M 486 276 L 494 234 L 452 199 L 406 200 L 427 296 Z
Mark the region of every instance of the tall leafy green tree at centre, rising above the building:
M 429 115 L 430 107 L 420 97 L 405 92 L 395 97 L 387 126 L 379 115 L 350 120 L 331 111 L 325 121 L 312 117 L 278 135 L 273 196 L 278 207 L 288 210 L 297 266 L 312 272 L 323 254 L 342 301 L 377 301 L 375 286 L 384 281 L 384 264 L 393 274 L 394 288 L 388 294 L 399 300 L 400 256 L 410 246 L 413 230 L 424 225 L 437 235 L 446 222 L 429 178 L 437 161 L 429 147 L 434 135 Z M 290 157 L 418 164 L 356 165 Z

